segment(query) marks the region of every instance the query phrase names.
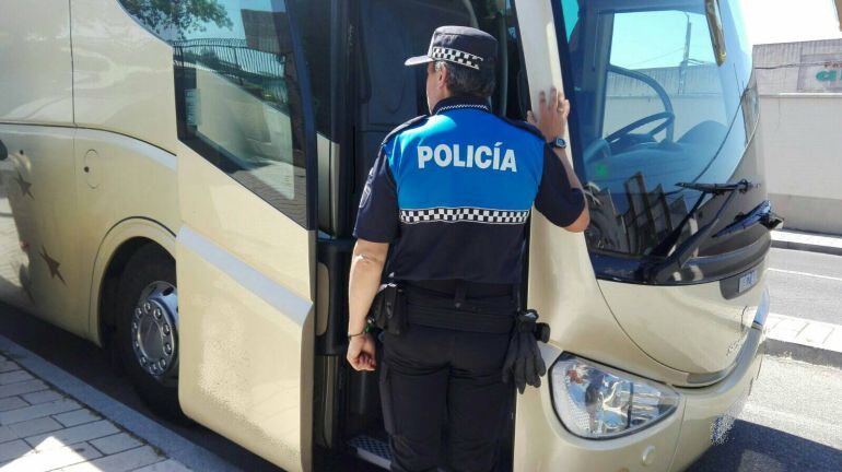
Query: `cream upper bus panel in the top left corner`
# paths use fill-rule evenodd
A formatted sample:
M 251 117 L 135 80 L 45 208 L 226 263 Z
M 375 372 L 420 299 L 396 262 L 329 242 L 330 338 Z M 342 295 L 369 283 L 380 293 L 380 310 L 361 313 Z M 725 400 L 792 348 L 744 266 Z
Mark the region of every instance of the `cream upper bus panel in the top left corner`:
M 9 0 L 2 9 L 0 120 L 72 123 L 68 2 Z

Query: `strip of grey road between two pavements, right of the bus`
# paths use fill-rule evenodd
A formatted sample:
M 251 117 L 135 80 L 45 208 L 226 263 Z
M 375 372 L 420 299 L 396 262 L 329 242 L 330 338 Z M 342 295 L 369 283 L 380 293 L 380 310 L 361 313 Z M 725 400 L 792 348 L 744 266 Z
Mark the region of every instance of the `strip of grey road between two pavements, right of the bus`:
M 842 256 L 773 248 L 767 284 L 772 312 L 842 324 Z

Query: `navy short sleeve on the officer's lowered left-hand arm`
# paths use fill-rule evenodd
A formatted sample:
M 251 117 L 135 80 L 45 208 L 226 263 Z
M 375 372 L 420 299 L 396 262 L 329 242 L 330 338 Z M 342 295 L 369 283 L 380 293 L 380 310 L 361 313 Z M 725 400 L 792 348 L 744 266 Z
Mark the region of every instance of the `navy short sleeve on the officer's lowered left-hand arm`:
M 398 235 L 398 196 L 389 161 L 381 150 L 365 180 L 356 213 L 354 237 L 372 243 L 391 243 Z

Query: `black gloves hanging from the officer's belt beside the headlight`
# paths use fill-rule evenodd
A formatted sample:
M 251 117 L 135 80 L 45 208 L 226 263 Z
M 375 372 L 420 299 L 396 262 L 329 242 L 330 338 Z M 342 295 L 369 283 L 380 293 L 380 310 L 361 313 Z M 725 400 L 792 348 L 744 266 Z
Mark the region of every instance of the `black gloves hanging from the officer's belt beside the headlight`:
M 538 314 L 527 310 L 517 316 L 512 338 L 508 341 L 508 352 L 503 363 L 503 381 L 514 378 L 517 390 L 523 393 L 526 386 L 541 386 L 541 376 L 547 374 L 541 353 L 538 350 L 538 339 L 547 342 L 549 326 L 538 323 Z

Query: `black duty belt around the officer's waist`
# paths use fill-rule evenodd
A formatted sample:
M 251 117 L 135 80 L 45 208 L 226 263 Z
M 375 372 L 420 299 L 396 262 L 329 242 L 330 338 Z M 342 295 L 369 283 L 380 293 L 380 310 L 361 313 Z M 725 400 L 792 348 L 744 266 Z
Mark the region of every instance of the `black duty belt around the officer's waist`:
M 411 284 L 404 286 L 404 293 L 410 324 L 507 334 L 517 315 L 512 295 L 467 298 L 464 293 L 447 296 Z

